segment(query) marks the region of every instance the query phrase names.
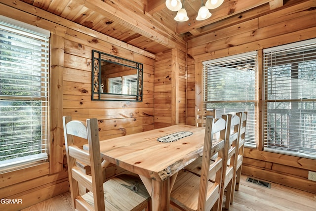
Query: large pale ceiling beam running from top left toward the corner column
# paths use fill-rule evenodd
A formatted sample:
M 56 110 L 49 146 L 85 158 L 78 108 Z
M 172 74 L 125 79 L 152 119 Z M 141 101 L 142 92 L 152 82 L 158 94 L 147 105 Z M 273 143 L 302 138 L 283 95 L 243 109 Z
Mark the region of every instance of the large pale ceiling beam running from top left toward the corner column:
M 76 0 L 82 2 L 82 0 Z M 168 48 L 178 47 L 186 51 L 186 42 L 178 34 L 171 32 L 149 14 L 138 14 L 118 1 L 103 2 L 101 0 L 84 0 L 84 6 L 107 18 L 126 26 L 128 29 L 149 38 Z M 132 18 L 128 18 L 132 17 Z

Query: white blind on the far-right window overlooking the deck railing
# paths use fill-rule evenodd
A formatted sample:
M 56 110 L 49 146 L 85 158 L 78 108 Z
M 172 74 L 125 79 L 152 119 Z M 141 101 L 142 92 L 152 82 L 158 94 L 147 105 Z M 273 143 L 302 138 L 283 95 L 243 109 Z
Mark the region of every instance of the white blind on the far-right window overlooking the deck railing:
M 264 50 L 264 150 L 316 158 L 316 40 Z

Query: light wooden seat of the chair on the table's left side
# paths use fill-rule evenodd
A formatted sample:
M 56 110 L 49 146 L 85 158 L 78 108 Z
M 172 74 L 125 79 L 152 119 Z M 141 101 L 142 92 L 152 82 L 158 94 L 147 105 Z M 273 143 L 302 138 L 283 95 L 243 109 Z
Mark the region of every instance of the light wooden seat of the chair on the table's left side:
M 126 190 L 129 189 L 130 191 Z M 103 183 L 105 210 L 132 211 L 145 209 L 150 196 L 138 176 L 121 174 Z M 81 196 L 93 207 L 93 193 Z

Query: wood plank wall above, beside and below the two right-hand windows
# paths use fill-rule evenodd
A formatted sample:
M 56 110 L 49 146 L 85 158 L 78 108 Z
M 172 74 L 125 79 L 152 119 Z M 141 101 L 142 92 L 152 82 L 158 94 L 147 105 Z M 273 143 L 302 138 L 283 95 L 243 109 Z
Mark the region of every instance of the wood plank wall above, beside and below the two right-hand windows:
M 214 32 L 190 40 L 188 42 L 188 123 L 194 125 L 195 110 L 202 106 L 202 61 L 316 38 L 315 11 L 315 0 L 300 2 L 288 0 L 284 1 L 283 7 L 270 14 L 258 17 L 256 13 L 260 14 L 261 11 L 252 11 L 232 17 L 227 22 L 220 23 L 222 27 L 214 26 Z M 229 22 L 236 24 L 225 27 Z M 258 122 L 260 123 L 260 120 Z M 261 131 L 259 127 L 258 131 Z M 258 139 L 262 142 L 261 136 Z M 308 171 L 316 171 L 315 160 L 269 153 L 262 151 L 260 147 L 246 148 L 244 157 L 242 173 L 316 193 L 316 182 L 308 180 Z

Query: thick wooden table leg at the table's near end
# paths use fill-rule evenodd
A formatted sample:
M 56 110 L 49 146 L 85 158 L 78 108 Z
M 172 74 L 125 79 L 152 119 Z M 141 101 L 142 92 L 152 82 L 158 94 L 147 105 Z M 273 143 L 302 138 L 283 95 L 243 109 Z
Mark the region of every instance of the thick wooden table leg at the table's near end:
M 169 178 L 160 182 L 152 179 L 152 211 L 169 211 Z

